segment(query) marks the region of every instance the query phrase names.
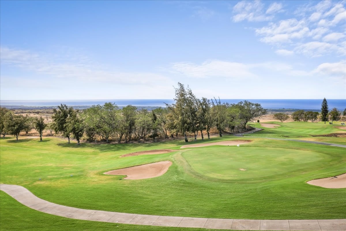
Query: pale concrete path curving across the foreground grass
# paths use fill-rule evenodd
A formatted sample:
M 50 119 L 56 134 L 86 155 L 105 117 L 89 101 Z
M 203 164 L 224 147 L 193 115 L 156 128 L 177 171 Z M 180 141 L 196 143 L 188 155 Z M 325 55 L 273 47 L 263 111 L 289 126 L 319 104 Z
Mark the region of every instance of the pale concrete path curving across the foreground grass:
M 339 220 L 239 220 L 180 216 L 155 216 L 117 213 L 54 204 L 38 198 L 19 185 L 1 184 L 0 190 L 20 203 L 44 213 L 79 220 L 103 221 L 123 224 L 192 227 L 232 230 L 289 230 L 289 231 L 345 231 L 346 219 Z

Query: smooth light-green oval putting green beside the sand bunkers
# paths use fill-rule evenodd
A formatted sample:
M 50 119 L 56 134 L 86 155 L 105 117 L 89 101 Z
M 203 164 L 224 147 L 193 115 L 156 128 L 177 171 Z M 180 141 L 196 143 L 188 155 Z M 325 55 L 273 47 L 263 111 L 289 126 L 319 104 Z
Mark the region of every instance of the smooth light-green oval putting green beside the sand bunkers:
M 192 149 L 182 155 L 199 178 L 239 183 L 296 176 L 297 170 L 329 160 L 328 155 L 315 151 L 259 147 Z

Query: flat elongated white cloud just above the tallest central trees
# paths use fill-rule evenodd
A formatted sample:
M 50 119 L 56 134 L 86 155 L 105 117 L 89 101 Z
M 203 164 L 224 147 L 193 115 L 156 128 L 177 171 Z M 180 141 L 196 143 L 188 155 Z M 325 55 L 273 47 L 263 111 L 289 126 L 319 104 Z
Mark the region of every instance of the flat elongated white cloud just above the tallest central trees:
M 202 64 L 188 62 L 173 63 L 171 69 L 174 72 L 192 78 L 223 77 L 242 79 L 256 77 L 246 64 L 220 60 L 206 61 Z

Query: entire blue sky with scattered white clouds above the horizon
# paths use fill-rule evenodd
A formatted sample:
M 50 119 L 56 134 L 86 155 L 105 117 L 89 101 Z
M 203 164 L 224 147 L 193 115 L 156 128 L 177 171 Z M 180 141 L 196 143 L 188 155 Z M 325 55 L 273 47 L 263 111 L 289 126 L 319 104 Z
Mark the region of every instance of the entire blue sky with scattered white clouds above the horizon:
M 345 1 L 0 1 L 0 98 L 345 99 Z

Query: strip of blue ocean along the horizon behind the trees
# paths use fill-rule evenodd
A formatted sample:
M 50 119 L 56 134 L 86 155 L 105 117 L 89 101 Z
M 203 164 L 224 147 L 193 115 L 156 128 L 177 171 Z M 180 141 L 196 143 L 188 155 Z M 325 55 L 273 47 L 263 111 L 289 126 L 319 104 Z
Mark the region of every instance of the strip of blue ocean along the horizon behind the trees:
M 221 103 L 235 104 L 243 99 L 221 99 Z M 253 103 L 260 103 L 267 109 L 304 109 L 320 110 L 323 99 L 247 99 Z M 137 107 L 165 107 L 165 103 L 174 103 L 173 99 L 100 99 L 100 100 L 0 100 L 0 106 L 13 109 L 27 108 L 55 108 L 66 104 L 75 108 L 88 108 L 92 105 L 103 105 L 112 102 L 119 107 L 133 105 Z M 346 99 L 327 99 L 329 109 L 346 108 Z

